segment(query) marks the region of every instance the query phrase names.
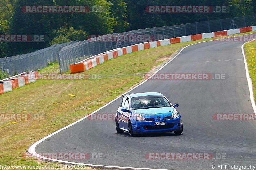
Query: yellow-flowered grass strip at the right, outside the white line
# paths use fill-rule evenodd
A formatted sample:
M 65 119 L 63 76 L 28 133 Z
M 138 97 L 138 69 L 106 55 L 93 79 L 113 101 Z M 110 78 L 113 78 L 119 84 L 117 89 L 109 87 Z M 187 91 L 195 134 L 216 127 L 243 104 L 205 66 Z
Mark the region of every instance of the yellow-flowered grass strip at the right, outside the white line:
M 244 49 L 249 74 L 252 79 L 254 101 L 256 101 L 256 41 L 246 43 Z

